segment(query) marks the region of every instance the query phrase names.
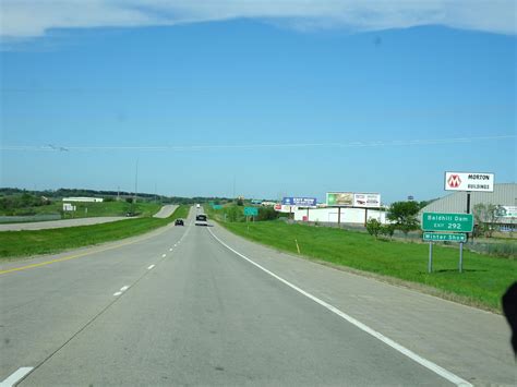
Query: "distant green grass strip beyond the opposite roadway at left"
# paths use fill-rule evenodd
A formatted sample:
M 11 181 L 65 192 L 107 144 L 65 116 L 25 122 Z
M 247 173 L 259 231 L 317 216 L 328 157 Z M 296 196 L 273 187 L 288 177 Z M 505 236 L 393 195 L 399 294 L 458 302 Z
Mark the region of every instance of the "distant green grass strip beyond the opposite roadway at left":
M 101 202 L 101 203 L 71 203 L 76 206 L 74 218 L 98 217 L 98 216 L 124 216 L 132 210 L 131 204 L 127 202 Z M 152 202 L 137 202 L 133 211 L 139 216 L 152 216 L 161 208 L 161 204 Z M 46 206 L 16 208 L 16 215 L 44 215 L 59 214 L 63 209 L 63 202 L 53 202 Z M 0 214 L 4 215 L 4 214 Z M 71 213 L 65 213 L 63 219 L 72 218 Z

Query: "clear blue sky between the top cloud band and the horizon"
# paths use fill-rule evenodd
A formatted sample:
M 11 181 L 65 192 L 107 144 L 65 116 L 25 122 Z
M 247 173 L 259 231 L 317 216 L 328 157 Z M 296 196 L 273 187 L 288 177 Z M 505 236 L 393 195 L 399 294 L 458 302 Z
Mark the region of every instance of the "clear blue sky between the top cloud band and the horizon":
M 247 197 L 389 203 L 443 196 L 446 170 L 516 181 L 507 25 L 239 15 L 8 23 L 0 185 L 132 191 L 136 160 L 140 191 L 179 196 L 236 181 Z

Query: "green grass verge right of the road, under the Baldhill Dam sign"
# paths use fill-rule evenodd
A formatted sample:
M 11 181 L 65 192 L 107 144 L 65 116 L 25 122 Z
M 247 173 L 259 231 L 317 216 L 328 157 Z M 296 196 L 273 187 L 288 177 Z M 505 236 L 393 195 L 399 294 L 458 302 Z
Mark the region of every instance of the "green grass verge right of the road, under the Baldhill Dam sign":
M 501 297 L 517 279 L 517 261 L 464 252 L 464 273 L 458 273 L 458 250 L 435 244 L 434 273 L 428 274 L 429 245 L 375 240 L 354 231 L 288 225 L 282 221 L 223 222 L 252 241 L 333 265 L 394 277 L 438 289 L 437 295 L 501 311 Z

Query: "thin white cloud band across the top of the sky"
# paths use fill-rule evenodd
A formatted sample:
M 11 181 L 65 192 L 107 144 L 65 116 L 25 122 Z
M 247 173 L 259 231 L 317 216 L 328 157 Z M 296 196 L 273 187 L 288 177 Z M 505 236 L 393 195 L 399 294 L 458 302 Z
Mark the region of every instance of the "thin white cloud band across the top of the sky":
M 172 25 L 238 17 L 296 28 L 380 31 L 438 24 L 516 34 L 514 0 L 2 0 L 0 36 L 29 38 L 52 28 Z

